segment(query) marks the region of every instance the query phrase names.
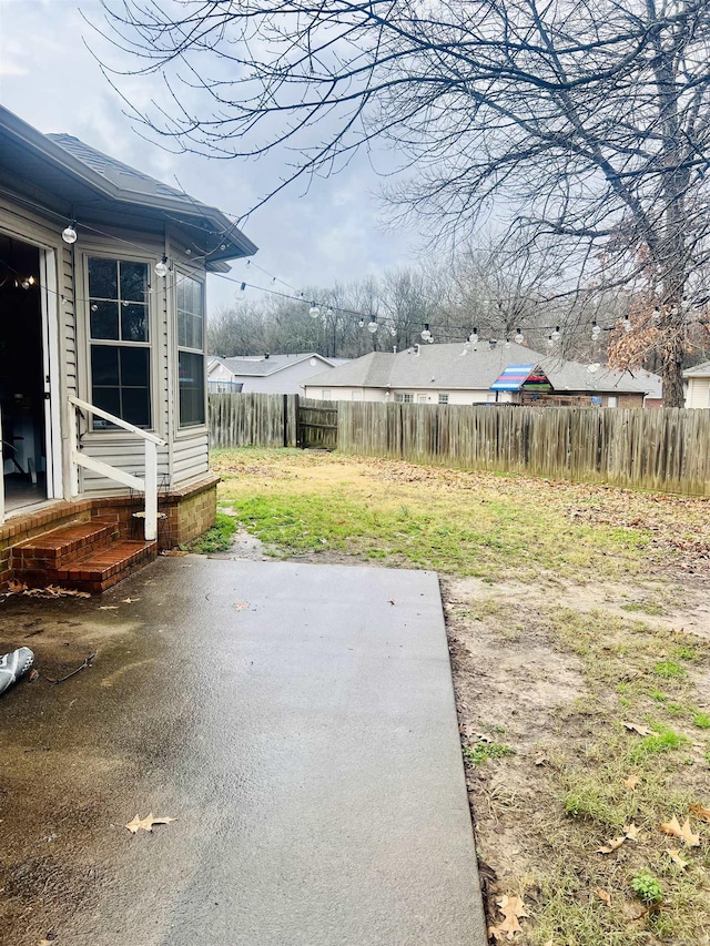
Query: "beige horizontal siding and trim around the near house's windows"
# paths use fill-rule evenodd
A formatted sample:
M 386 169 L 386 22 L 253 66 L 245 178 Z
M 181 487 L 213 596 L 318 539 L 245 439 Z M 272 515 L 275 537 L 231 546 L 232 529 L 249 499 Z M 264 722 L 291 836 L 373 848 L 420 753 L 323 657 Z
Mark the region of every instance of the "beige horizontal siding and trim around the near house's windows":
M 3 182 L 9 186 L 9 182 Z M 151 430 L 168 441 L 158 449 L 159 488 L 165 490 L 204 477 L 209 469 L 206 426 L 178 427 L 178 346 L 174 316 L 172 274 L 166 281 L 152 275 L 153 265 L 165 252 L 165 244 L 155 234 L 112 230 L 102 226 L 105 235 L 81 233 L 72 246 L 61 238 L 62 223 L 52 214 L 44 220 L 39 212 L 29 211 L 22 202 L 0 197 L 0 233 L 12 238 L 52 251 L 55 264 L 57 295 L 49 297 L 50 332 L 55 333 L 59 354 L 58 398 L 62 449 L 62 480 L 65 498 L 71 496 L 71 471 L 68 456 L 68 396 L 77 395 L 91 403 L 89 373 L 89 303 L 87 260 L 92 255 L 134 260 L 149 265 L 151 273 L 150 339 L 151 339 Z M 136 244 L 139 246 L 136 246 Z M 140 247 L 140 248 L 139 248 Z M 187 272 L 194 272 L 190 257 L 183 261 Z M 200 278 L 201 272 L 194 273 Z M 49 295 L 49 294 L 48 294 Z M 39 354 L 38 354 L 39 357 Z M 91 430 L 87 418 L 79 425 L 81 449 L 87 455 L 142 477 L 145 468 L 144 441 L 140 437 L 116 430 Z M 88 498 L 125 495 L 119 484 L 93 471 L 78 471 L 79 495 Z

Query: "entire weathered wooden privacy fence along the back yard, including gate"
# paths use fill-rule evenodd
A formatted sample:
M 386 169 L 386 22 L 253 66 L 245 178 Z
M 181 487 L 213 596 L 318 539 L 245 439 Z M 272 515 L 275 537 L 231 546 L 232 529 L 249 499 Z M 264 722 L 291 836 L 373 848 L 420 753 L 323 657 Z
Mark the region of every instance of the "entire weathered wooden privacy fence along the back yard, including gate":
M 710 496 L 710 410 L 210 395 L 213 447 L 343 454 Z

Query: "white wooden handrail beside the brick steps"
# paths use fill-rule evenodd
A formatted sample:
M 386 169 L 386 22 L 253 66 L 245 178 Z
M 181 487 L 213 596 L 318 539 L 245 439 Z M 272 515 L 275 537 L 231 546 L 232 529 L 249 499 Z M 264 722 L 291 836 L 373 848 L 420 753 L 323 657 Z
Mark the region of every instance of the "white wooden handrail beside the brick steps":
M 140 477 L 133 476 L 125 470 L 119 469 L 118 467 L 112 467 L 103 460 L 98 460 L 94 457 L 81 452 L 77 437 L 77 409 L 84 410 L 87 414 L 94 414 L 97 417 L 102 417 L 110 424 L 115 424 L 116 427 L 122 427 L 130 434 L 135 434 L 138 437 L 143 438 L 145 446 L 145 474 L 143 479 L 140 479 Z M 93 404 L 89 404 L 80 397 L 74 397 L 73 394 L 70 394 L 69 444 L 72 462 L 72 496 L 79 496 L 79 477 L 77 475 L 79 467 L 93 470 L 93 472 L 101 474 L 109 479 L 114 479 L 116 482 L 131 487 L 132 489 L 140 489 L 145 496 L 145 541 L 155 541 L 158 538 L 158 447 L 166 446 L 165 440 L 161 440 L 160 437 L 155 437 L 154 434 L 141 430 L 140 427 L 134 427 L 133 424 L 129 424 L 126 420 L 122 420 L 120 417 L 109 414 L 108 410 L 102 410 L 100 407 L 95 407 Z

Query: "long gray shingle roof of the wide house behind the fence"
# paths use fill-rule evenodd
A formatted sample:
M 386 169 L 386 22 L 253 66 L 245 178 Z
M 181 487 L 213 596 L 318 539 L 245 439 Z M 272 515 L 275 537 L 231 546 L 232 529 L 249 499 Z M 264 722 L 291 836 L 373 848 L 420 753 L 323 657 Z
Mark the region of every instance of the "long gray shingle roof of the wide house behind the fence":
M 659 390 L 660 378 L 649 372 L 618 372 L 602 367 L 591 373 L 581 362 L 542 354 L 511 342 L 509 347 L 479 342 L 464 345 L 422 345 L 397 354 L 372 352 L 339 368 L 308 379 L 308 387 L 417 388 L 436 390 L 488 390 L 508 365 L 539 365 L 556 391 L 609 391 L 618 394 Z

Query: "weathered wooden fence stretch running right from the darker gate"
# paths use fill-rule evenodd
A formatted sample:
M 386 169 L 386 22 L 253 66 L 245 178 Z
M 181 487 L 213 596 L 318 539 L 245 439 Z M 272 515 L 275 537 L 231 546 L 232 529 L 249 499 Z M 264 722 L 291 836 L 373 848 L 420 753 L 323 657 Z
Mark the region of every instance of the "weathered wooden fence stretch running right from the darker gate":
M 710 410 L 341 401 L 337 448 L 710 496 Z

